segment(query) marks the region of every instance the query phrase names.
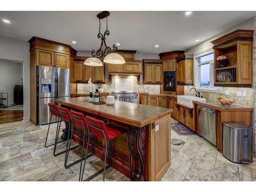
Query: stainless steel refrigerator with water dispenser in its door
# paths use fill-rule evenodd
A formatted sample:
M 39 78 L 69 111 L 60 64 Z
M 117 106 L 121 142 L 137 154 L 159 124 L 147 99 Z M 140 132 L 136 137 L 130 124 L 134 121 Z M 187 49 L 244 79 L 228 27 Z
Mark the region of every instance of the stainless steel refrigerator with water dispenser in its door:
M 37 66 L 37 120 L 38 124 L 50 122 L 48 103 L 54 99 L 70 97 L 69 69 Z M 52 117 L 51 122 L 57 119 Z

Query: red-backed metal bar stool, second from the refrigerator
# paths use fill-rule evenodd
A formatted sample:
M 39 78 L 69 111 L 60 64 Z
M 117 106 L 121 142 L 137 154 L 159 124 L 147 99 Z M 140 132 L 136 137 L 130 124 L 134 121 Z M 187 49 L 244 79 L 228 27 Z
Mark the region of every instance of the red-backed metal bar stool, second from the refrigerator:
M 60 155 L 62 153 L 66 153 L 67 152 L 69 140 L 71 142 L 71 139 L 69 139 L 70 138 L 70 130 L 73 131 L 73 121 L 72 121 L 71 115 L 69 113 L 69 110 L 67 108 L 63 108 L 62 106 L 57 106 L 57 109 L 58 109 L 58 113 L 59 113 L 59 117 L 60 117 L 60 123 L 59 123 L 59 129 L 57 131 L 56 140 L 55 140 L 55 146 L 54 146 L 54 151 L 53 151 L 53 155 L 54 156 L 57 156 L 57 155 Z M 62 120 L 66 123 L 67 129 L 68 129 L 67 147 L 66 147 L 66 150 L 64 150 L 62 152 L 59 152 L 58 154 L 55 154 L 57 143 L 58 143 L 60 124 L 61 124 Z M 76 145 L 76 146 L 70 148 L 70 150 L 73 150 L 74 148 L 77 148 L 79 146 L 80 145 Z M 80 162 L 80 160 L 79 160 L 79 162 Z M 66 159 L 66 156 L 65 156 L 65 167 L 66 168 L 69 168 L 70 166 L 72 166 L 72 165 L 74 165 L 76 163 L 78 163 L 78 162 L 74 162 L 74 163 L 71 163 L 71 164 L 67 165 L 67 159 Z

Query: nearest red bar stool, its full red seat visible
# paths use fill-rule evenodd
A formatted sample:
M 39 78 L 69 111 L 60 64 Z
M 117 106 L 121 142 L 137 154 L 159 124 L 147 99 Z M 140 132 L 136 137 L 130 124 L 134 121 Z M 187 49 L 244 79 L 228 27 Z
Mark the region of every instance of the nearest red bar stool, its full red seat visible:
M 91 135 L 94 135 L 100 139 L 105 140 L 105 157 L 104 157 L 104 168 L 99 170 L 97 173 L 90 176 L 89 178 L 87 178 L 85 181 L 90 181 L 91 179 L 93 179 L 94 177 L 96 177 L 97 175 L 99 175 L 102 172 L 103 172 L 103 181 L 105 181 L 105 169 L 111 167 L 111 165 L 112 165 L 111 141 L 114 140 L 115 138 L 117 138 L 118 136 L 126 133 L 126 130 L 122 129 L 121 127 L 116 126 L 116 125 L 112 125 L 112 124 L 106 125 L 104 123 L 104 121 L 95 119 L 90 116 L 86 116 L 86 122 L 87 122 L 88 131 L 89 131 L 89 138 L 88 138 L 87 148 L 86 148 L 86 156 L 87 156 L 87 152 L 88 152 L 90 137 L 91 137 Z M 129 148 L 128 142 L 127 142 L 127 147 L 128 147 L 128 156 L 129 156 L 130 174 L 131 174 L 131 159 L 130 159 L 130 152 L 129 152 L 130 148 Z M 107 151 L 109 151 L 109 165 L 108 166 L 106 166 Z M 81 177 L 80 181 L 82 181 L 82 178 L 83 178 L 85 165 L 86 165 L 86 159 L 84 160 L 82 177 Z

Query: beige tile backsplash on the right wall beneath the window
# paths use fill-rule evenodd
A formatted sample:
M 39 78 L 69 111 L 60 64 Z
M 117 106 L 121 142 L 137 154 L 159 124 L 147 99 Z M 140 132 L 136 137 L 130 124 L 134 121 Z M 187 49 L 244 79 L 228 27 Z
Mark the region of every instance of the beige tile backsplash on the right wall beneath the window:
M 194 95 L 196 94 L 195 90 L 189 91 L 193 86 L 185 86 L 184 94 L 185 95 Z M 229 95 L 225 95 L 225 91 L 229 91 Z M 246 92 L 246 97 L 238 97 L 237 91 Z M 217 96 L 223 96 L 227 99 L 233 99 L 234 104 L 241 105 L 241 106 L 248 106 L 250 108 L 254 108 L 254 90 L 252 88 L 227 88 L 223 87 L 223 94 L 221 93 L 210 93 L 210 92 L 203 92 L 200 91 L 201 95 L 209 99 L 211 101 L 218 101 Z

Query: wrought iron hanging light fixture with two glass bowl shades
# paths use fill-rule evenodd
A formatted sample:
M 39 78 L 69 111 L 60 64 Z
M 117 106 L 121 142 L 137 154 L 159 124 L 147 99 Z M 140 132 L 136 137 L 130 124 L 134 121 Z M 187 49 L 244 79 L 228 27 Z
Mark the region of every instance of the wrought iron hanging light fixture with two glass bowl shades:
M 110 15 L 110 12 L 108 12 L 108 11 L 103 11 L 97 15 L 97 17 L 99 18 L 99 33 L 98 33 L 97 37 L 101 39 L 101 45 L 97 51 L 92 50 L 92 52 L 91 52 L 92 57 L 86 59 L 83 63 L 84 65 L 103 66 L 103 63 L 100 60 L 103 58 L 104 58 L 103 61 L 105 63 L 110 63 L 110 64 L 124 64 L 125 63 L 124 58 L 120 54 L 115 53 L 117 51 L 116 44 L 114 44 L 112 46 L 112 49 L 106 45 L 106 36 L 108 36 L 110 34 L 110 31 L 108 28 L 108 16 L 109 15 Z M 100 19 L 103 19 L 105 17 L 106 17 L 106 30 L 102 34 Z

